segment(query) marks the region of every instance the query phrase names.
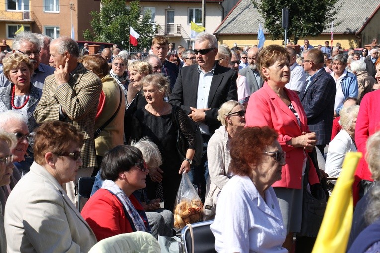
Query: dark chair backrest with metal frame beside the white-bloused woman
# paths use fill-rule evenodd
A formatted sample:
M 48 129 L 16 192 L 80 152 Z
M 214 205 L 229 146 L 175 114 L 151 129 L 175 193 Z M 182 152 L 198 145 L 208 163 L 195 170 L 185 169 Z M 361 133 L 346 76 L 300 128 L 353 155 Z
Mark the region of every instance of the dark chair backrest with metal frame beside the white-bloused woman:
M 202 221 L 191 224 L 193 228 L 194 252 L 215 253 L 215 237 L 211 232 L 210 225 L 214 220 Z M 182 247 L 184 253 L 192 252 L 190 228 L 186 225 L 181 232 Z

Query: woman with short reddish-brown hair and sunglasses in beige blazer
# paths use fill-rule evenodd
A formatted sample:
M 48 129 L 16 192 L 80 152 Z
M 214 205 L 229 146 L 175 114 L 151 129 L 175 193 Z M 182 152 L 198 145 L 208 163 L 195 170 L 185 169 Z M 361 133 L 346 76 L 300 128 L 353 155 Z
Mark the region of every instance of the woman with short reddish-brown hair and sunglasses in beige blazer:
M 34 163 L 5 206 L 8 252 L 88 252 L 96 237 L 62 185 L 75 179 L 84 136 L 61 121 L 35 130 Z

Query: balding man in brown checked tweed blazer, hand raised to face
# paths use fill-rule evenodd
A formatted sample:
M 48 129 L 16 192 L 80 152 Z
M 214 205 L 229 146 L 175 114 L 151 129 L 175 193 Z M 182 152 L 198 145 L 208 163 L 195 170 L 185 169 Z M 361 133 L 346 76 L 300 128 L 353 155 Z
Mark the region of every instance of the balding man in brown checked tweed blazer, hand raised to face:
M 84 134 L 81 148 L 83 165 L 76 180 L 66 183 L 66 192 L 77 206 L 75 185 L 79 177 L 91 176 L 97 167 L 95 153 L 95 116 L 102 91 L 102 82 L 94 73 L 77 62 L 79 47 L 68 37 L 59 37 L 50 44 L 50 62 L 56 68 L 46 78 L 42 97 L 34 112 L 37 123 L 60 120 L 72 124 Z M 82 202 L 84 203 L 84 201 Z

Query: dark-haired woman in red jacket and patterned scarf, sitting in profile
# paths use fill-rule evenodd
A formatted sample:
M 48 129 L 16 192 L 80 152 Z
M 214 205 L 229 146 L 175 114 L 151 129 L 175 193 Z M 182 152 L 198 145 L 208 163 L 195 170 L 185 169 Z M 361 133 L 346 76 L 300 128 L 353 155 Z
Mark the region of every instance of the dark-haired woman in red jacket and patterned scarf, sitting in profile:
M 147 175 L 147 164 L 137 147 L 119 145 L 104 156 L 102 187 L 81 212 L 99 241 L 123 233 L 151 232 L 144 208 L 132 194 L 146 186 Z

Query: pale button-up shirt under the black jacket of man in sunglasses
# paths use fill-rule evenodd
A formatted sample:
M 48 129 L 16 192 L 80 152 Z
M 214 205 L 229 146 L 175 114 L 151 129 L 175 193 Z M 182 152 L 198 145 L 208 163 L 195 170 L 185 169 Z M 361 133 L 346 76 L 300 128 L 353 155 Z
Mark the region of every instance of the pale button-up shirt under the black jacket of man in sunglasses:
M 200 66 L 198 66 L 199 81 L 198 81 L 198 93 L 197 93 L 197 109 L 208 108 L 209 103 L 209 93 L 211 87 L 211 81 L 213 80 L 213 74 L 215 66 L 209 72 L 203 71 Z M 204 123 L 199 123 L 199 128 L 202 134 L 210 135 L 209 126 Z

